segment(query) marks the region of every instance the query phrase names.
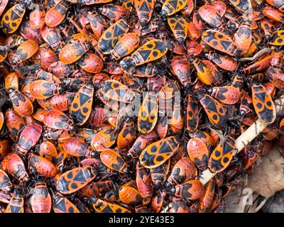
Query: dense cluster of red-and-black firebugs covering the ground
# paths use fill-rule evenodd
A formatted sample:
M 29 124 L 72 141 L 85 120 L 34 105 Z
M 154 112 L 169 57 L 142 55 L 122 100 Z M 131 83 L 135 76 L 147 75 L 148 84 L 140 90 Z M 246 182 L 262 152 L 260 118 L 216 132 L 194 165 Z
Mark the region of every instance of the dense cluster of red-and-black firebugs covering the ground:
M 1 212 L 224 212 L 284 146 L 283 0 L 2 0 L 0 16 Z

